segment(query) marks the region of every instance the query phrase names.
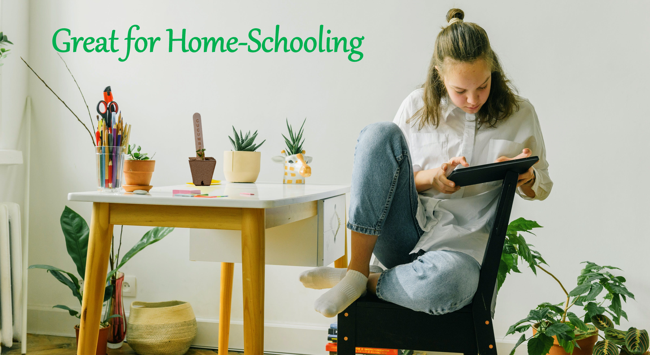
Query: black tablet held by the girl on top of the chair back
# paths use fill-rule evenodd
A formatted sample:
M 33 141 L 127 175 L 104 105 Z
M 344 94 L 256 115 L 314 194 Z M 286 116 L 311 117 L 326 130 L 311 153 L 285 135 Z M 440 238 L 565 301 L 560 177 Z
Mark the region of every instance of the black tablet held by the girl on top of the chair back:
M 478 183 L 489 183 L 490 181 L 502 180 L 506 172 L 513 171 L 517 174 L 526 172 L 532 164 L 539 161 L 539 157 L 527 157 L 491 163 L 484 165 L 470 166 L 469 168 L 457 168 L 447 179 L 454 181 L 458 186 L 476 185 Z

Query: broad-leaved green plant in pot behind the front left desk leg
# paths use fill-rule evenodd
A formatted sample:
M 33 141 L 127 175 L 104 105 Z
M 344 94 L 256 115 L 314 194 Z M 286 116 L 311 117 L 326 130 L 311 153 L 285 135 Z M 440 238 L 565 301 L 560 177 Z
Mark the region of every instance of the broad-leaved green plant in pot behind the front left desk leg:
M 61 229 L 63 231 L 63 235 L 65 237 L 66 241 L 66 248 L 68 250 L 68 255 L 72 258 L 72 261 L 75 263 L 77 267 L 77 273 L 81 276 L 81 280 L 84 279 L 85 274 L 86 274 L 86 254 L 88 252 L 88 237 L 90 235 L 90 229 L 88 228 L 88 224 L 86 223 L 86 220 L 81 217 L 78 213 L 70 209 L 70 207 L 66 206 L 66 208 L 63 210 L 63 213 L 61 214 L 60 218 L 60 223 L 61 223 Z M 162 227 L 156 227 L 151 230 L 149 230 L 145 235 L 138 241 L 138 243 L 127 252 L 122 257 L 122 260 L 118 264 L 116 268 L 111 268 L 111 272 L 109 272 L 107 276 L 107 285 L 104 291 L 104 302 L 109 300 L 111 297 L 114 297 L 114 283 L 111 282 L 112 276 L 118 271 L 120 267 L 124 265 L 129 259 L 131 259 L 135 254 L 140 252 L 140 250 L 144 249 L 146 246 L 149 244 L 153 244 L 162 238 L 164 238 L 166 235 L 168 235 L 174 228 L 162 228 Z M 119 250 L 119 248 L 118 248 Z M 112 253 L 111 253 L 112 254 Z M 57 267 L 53 267 L 50 265 L 31 265 L 29 269 L 45 269 L 47 272 L 52 274 L 59 282 L 63 283 L 64 285 L 68 286 L 70 290 L 72 291 L 72 295 L 79 300 L 79 306 L 81 306 L 81 300 L 82 300 L 82 293 L 83 289 L 81 288 L 81 283 L 79 282 L 79 278 L 75 276 L 72 272 L 67 272 L 65 270 L 59 269 Z M 66 276 L 67 275 L 67 276 Z M 120 300 L 121 302 L 121 300 Z M 81 314 L 79 314 L 79 311 L 72 309 L 68 306 L 64 306 L 61 304 L 57 304 L 56 306 L 53 306 L 53 308 L 60 308 L 60 309 L 65 309 L 72 315 L 73 317 L 81 318 Z M 98 338 L 98 344 L 97 344 L 97 355 L 105 355 L 106 354 L 106 349 L 107 349 L 107 340 L 109 337 L 109 331 L 110 331 L 110 322 L 112 322 L 114 319 L 120 317 L 121 321 L 123 322 L 123 314 L 122 315 L 107 315 L 103 321 L 100 323 L 100 328 L 99 328 L 99 338 Z M 79 325 L 75 326 L 75 332 L 77 333 L 77 341 L 79 341 Z

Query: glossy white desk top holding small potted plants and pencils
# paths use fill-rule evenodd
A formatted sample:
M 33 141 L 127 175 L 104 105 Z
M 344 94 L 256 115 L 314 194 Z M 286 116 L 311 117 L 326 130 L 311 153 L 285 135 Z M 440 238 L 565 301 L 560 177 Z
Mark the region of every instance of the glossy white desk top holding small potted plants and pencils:
M 200 190 L 210 196 L 227 197 L 200 198 L 174 196 L 172 190 Z M 251 192 L 254 195 L 242 195 Z M 350 192 L 350 185 L 307 183 L 289 185 L 283 183 L 226 183 L 212 186 L 189 184 L 153 187 L 149 194 L 131 192 L 107 193 L 99 191 L 70 192 L 68 200 L 83 202 L 109 202 L 112 204 L 181 205 L 209 207 L 273 208 L 282 205 L 300 204 L 330 198 Z

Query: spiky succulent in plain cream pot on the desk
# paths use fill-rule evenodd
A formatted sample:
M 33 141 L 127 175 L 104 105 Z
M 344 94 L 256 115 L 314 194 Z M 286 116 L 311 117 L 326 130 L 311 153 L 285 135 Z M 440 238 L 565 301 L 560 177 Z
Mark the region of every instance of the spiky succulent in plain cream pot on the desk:
M 233 126 L 235 139 L 228 137 L 234 150 L 224 151 L 224 175 L 226 180 L 231 183 L 254 183 L 259 175 L 259 163 L 261 153 L 257 150 L 266 140 L 260 144 L 255 144 L 257 131 L 250 134 L 250 131 L 244 136 L 241 131 Z

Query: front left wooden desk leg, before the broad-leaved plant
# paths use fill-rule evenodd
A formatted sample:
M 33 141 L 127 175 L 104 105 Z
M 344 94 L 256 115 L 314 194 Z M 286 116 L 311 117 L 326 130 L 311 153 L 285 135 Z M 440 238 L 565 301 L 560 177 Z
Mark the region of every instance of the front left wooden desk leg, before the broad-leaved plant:
M 90 237 L 86 257 L 86 276 L 81 302 L 81 326 L 78 355 L 94 355 L 101 319 L 101 305 L 109 267 L 110 238 L 113 226 L 109 224 L 109 204 L 94 202 L 90 218 Z

